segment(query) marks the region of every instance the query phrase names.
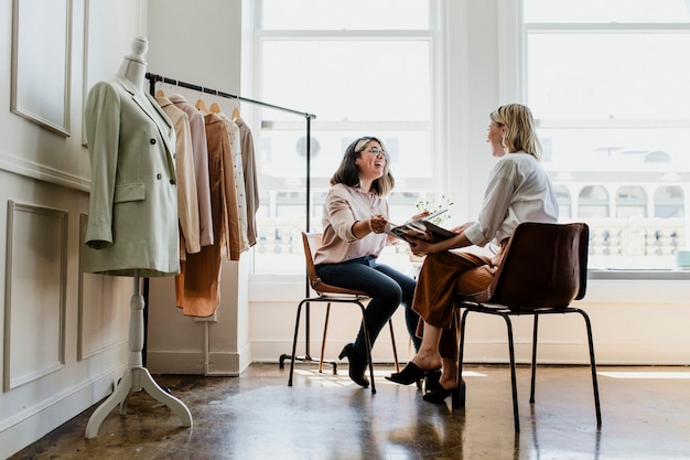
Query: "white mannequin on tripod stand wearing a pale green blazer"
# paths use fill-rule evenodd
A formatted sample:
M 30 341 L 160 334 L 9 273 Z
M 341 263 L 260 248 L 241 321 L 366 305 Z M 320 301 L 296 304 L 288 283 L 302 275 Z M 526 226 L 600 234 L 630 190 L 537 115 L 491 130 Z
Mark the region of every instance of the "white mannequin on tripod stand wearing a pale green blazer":
M 130 301 L 129 365 L 112 394 L 94 411 L 86 437 L 127 397 L 145 389 L 192 426 L 186 406 L 164 392 L 142 365 L 143 309 L 140 276 L 179 271 L 175 135 L 172 122 L 143 92 L 145 38 L 132 43 L 118 73 L 89 90 L 85 108 L 91 163 L 89 218 L 82 267 L 86 272 L 133 277 Z

